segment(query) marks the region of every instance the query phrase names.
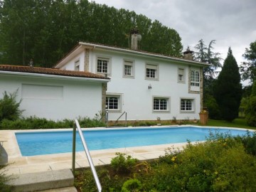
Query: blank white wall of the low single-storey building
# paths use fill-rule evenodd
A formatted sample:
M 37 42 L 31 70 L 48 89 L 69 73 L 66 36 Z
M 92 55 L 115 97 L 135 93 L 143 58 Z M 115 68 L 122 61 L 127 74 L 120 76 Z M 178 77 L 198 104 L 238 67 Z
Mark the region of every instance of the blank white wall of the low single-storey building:
M 0 98 L 5 90 L 17 89 L 17 99 L 22 99 L 20 109 L 25 110 L 23 117 L 93 118 L 102 110 L 101 82 L 0 74 Z

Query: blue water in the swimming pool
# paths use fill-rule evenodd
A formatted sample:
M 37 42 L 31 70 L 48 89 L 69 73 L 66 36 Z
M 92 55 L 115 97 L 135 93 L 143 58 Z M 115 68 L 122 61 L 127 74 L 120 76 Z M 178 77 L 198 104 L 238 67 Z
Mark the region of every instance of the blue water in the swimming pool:
M 210 132 L 229 132 L 232 135 L 246 134 L 240 129 L 213 129 L 198 127 L 100 129 L 83 131 L 89 150 L 115 149 L 130 146 L 149 146 L 203 141 Z M 18 132 L 18 146 L 22 156 L 72 152 L 72 131 Z M 82 151 L 82 142 L 77 133 L 76 150 Z

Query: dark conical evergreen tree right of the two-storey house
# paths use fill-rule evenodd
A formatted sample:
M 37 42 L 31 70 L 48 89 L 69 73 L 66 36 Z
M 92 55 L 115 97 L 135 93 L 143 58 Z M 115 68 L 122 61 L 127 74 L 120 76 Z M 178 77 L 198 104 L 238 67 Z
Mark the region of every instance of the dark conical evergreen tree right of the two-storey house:
M 238 117 L 240 100 L 242 97 L 242 85 L 240 84 L 240 73 L 231 48 L 225 58 L 223 68 L 218 75 L 214 89 L 215 99 L 220 107 L 220 117 L 233 121 Z

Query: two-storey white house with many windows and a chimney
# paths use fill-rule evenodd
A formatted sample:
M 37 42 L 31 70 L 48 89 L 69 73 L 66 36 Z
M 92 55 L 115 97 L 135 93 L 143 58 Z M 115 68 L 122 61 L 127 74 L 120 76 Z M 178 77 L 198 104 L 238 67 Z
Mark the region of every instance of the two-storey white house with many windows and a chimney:
M 111 78 L 105 100 L 110 120 L 123 112 L 128 120 L 199 119 L 208 64 L 144 52 L 137 44 L 134 49 L 80 42 L 55 68 Z

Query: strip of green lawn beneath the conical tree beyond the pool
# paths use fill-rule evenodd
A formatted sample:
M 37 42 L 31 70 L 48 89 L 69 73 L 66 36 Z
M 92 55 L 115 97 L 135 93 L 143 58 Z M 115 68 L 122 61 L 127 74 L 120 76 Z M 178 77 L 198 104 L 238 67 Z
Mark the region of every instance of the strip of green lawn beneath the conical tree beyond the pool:
M 225 120 L 215 120 L 209 119 L 207 126 L 213 127 L 238 127 L 238 128 L 245 128 L 245 129 L 256 129 L 256 127 L 250 127 L 246 124 L 245 119 L 234 119 L 233 122 L 227 122 Z

